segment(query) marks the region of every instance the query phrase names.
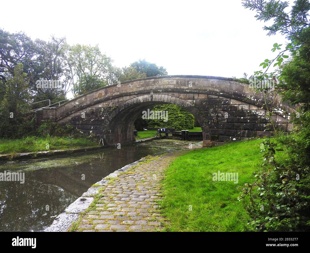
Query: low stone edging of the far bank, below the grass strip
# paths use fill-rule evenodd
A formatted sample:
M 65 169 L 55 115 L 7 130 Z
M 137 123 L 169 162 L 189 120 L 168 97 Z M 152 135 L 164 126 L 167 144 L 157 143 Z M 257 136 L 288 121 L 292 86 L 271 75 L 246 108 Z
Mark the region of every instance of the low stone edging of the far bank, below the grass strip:
M 162 136 L 162 139 L 164 139 L 166 136 Z M 138 139 L 135 142 L 124 144 L 125 145 L 131 145 L 131 144 L 137 144 L 140 142 L 147 142 L 159 139 L 158 137 L 152 137 L 152 138 L 145 138 L 145 139 Z M 91 148 L 76 148 L 71 150 L 52 150 L 52 151 L 39 151 L 39 152 L 30 152 L 30 153 L 16 153 L 16 154 L 4 154 L 0 155 L 0 161 L 11 161 L 11 160 L 23 160 L 23 159 L 38 159 L 38 158 L 45 158 L 45 157 L 51 157 L 56 155 L 66 155 L 66 154 L 75 154 L 75 153 L 81 153 L 81 152 L 88 152 L 88 151 L 94 151 L 104 148 L 112 148 L 115 147 L 114 145 L 106 145 L 101 147 L 91 147 Z

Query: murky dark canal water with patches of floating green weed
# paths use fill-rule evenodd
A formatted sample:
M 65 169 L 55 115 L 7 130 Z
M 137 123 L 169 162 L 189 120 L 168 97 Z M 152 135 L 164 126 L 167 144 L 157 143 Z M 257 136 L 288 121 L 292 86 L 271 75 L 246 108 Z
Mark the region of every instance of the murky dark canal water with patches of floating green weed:
M 187 141 L 162 139 L 53 158 L 0 163 L 24 183 L 0 181 L 0 231 L 42 231 L 91 185 L 123 166 Z M 83 176 L 84 175 L 84 176 Z

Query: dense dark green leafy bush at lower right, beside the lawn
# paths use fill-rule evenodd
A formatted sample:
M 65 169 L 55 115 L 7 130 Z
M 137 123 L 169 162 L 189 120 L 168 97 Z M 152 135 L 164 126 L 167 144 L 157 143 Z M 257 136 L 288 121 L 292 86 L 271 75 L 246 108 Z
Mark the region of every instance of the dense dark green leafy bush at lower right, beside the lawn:
M 263 169 L 255 173 L 254 184 L 245 184 L 241 195 L 250 200 L 245 202 L 251 217 L 247 230 L 310 231 L 309 153 L 296 148 L 309 148 L 302 135 L 280 133 L 262 143 Z

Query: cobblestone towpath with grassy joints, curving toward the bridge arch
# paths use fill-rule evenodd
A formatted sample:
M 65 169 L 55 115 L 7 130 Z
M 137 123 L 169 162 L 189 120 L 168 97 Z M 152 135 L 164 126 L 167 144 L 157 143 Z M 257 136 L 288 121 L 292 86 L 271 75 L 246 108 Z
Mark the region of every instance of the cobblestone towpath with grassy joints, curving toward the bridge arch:
M 158 201 L 165 169 L 186 151 L 167 153 L 139 163 L 104 186 L 101 198 L 81 220 L 75 231 L 160 231 L 165 217 Z

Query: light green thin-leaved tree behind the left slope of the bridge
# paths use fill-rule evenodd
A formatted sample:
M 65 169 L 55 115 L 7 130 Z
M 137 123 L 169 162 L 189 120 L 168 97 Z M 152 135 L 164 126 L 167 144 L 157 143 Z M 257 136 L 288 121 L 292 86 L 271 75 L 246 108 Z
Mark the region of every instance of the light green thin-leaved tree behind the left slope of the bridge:
M 117 82 L 113 60 L 102 54 L 98 45 L 73 45 L 68 48 L 67 54 L 67 81 L 73 87 L 74 96 Z

